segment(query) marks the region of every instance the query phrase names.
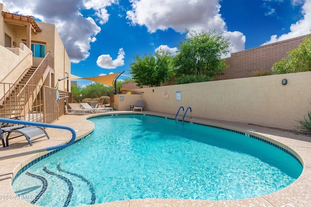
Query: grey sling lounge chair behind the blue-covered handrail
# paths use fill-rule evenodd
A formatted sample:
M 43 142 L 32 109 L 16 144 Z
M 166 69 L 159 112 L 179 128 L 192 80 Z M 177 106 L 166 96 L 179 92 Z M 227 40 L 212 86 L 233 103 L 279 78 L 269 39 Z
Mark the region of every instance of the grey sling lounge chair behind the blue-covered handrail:
M 4 137 L 3 134 L 7 133 L 6 135 L 6 146 L 9 146 L 9 140 L 17 138 L 17 137 L 21 137 L 21 136 L 25 136 L 28 143 L 32 146 L 32 141 L 35 141 L 37 139 L 43 138 L 43 137 L 47 137 L 48 139 L 50 139 L 48 133 L 46 132 L 46 130 L 43 127 L 36 127 L 36 126 L 25 126 L 25 125 L 17 125 L 17 126 L 12 126 L 12 127 L 0 127 L 1 129 L 1 141 L 2 141 L 2 145 L 3 147 L 5 147 L 4 144 Z M 12 133 L 19 133 L 19 135 L 16 136 L 11 136 L 10 135 Z

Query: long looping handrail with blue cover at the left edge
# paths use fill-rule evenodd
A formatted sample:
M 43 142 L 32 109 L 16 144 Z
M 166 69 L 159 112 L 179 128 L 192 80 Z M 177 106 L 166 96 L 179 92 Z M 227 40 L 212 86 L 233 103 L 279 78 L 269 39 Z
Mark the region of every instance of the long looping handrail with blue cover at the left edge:
M 0 160 L 19 157 L 19 156 L 23 156 L 23 155 L 34 154 L 34 153 L 38 153 L 38 152 L 44 152 L 44 151 L 50 151 L 50 150 L 65 148 L 65 147 L 68 147 L 69 145 L 71 145 L 72 143 L 74 143 L 74 141 L 76 139 L 75 130 L 71 127 L 67 127 L 67 126 L 63 126 L 63 125 L 53 125 L 53 124 L 30 122 L 30 121 L 23 121 L 23 120 L 18 120 L 18 119 L 7 119 L 7 118 L 0 118 L 0 122 L 10 123 L 10 124 L 19 124 L 19 125 L 30 125 L 30 126 L 37 126 L 37 127 L 60 128 L 60 129 L 69 130 L 72 134 L 71 140 L 68 143 L 60 144 L 60 145 L 56 145 L 56 146 L 49 146 L 46 148 L 36 149 L 36 150 L 28 151 L 28 152 L 17 153 L 17 154 L 13 154 L 13 155 L 7 155 L 7 156 L 0 157 Z

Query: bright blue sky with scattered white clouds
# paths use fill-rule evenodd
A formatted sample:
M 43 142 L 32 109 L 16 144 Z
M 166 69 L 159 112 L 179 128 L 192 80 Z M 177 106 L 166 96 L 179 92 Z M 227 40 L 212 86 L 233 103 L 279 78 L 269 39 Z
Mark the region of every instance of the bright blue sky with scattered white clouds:
M 311 33 L 311 0 L 0 0 L 55 24 L 80 77 L 125 71 L 159 47 L 174 54 L 185 29 L 218 30 L 232 52 Z M 90 83 L 79 80 L 80 86 Z

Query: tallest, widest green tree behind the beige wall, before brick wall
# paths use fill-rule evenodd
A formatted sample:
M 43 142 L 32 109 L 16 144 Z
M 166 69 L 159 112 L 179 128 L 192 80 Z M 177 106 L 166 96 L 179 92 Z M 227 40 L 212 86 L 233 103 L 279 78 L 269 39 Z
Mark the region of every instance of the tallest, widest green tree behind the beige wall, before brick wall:
M 187 36 L 179 43 L 180 50 L 173 58 L 176 79 L 208 81 L 226 67 L 222 55 L 230 52 L 229 38 L 215 30 L 195 32 L 186 30 Z M 195 77 L 198 76 L 198 77 Z

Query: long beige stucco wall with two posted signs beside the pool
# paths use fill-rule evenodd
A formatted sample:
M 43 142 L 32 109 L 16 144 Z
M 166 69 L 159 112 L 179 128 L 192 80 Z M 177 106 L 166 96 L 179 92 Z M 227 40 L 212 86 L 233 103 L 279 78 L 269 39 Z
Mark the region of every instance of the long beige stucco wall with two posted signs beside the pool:
M 287 79 L 287 85 L 282 80 Z M 183 106 L 192 116 L 296 129 L 311 111 L 311 72 L 134 89 L 146 110 L 176 114 Z M 154 89 L 154 92 L 152 90 Z M 176 100 L 176 92 L 181 100 Z M 142 93 L 143 92 L 143 93 Z M 163 98 L 168 92 L 169 98 Z M 126 105 L 126 96 L 123 104 Z M 132 100 L 133 101 L 133 100 Z M 182 113 L 180 113 L 182 114 Z M 187 113 L 187 117 L 190 113 Z M 251 126 L 250 126 L 251 128 Z

